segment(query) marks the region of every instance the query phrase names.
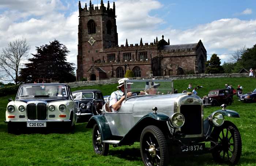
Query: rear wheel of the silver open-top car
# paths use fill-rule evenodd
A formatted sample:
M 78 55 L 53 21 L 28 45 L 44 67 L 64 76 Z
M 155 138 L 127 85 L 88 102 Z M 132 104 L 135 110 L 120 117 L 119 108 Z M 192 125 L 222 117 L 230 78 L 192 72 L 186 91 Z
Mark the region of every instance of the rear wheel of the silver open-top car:
M 97 123 L 93 126 L 93 149 L 96 154 L 104 156 L 109 152 L 109 144 L 101 142 L 101 133 Z

